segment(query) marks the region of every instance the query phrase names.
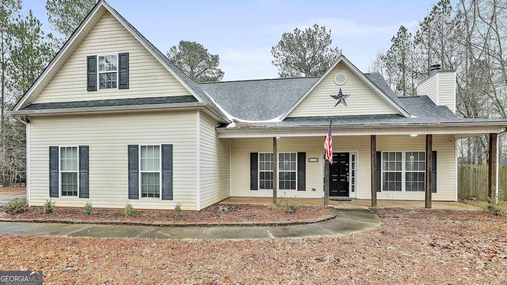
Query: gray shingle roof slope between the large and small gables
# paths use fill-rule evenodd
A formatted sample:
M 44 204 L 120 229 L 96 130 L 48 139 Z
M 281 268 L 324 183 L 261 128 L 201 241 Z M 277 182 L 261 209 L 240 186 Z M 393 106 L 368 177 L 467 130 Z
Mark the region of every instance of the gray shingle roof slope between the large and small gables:
M 266 121 L 290 109 L 317 80 L 318 77 L 298 77 L 199 85 L 232 116 L 247 121 Z

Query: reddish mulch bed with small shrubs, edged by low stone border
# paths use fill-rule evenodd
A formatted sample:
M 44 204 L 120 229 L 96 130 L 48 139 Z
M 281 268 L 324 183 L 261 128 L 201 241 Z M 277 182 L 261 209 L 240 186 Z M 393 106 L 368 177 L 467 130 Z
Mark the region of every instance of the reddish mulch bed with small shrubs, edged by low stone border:
M 219 211 L 219 207 L 228 210 Z M 0 213 L 4 212 L 0 207 Z M 94 209 L 91 215 L 86 215 L 83 208 L 56 208 L 50 214 L 44 213 L 42 208 L 31 207 L 29 210 L 9 215 L 4 218 L 12 219 L 82 219 L 82 220 L 141 220 L 162 222 L 267 222 L 267 221 L 298 221 L 315 220 L 331 214 L 331 209 L 325 206 L 301 206 L 295 213 L 285 213 L 282 209 L 272 209 L 264 205 L 219 205 L 214 204 L 200 211 L 182 211 L 182 215 L 174 218 L 173 211 L 134 211 L 130 217 L 125 217 L 122 210 Z

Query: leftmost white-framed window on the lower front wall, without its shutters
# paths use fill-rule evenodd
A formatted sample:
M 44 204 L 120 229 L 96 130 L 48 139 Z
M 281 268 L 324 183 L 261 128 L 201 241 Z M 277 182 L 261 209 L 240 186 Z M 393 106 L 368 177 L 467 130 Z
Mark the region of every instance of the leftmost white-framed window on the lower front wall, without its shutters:
M 78 196 L 78 148 L 60 147 L 61 196 Z

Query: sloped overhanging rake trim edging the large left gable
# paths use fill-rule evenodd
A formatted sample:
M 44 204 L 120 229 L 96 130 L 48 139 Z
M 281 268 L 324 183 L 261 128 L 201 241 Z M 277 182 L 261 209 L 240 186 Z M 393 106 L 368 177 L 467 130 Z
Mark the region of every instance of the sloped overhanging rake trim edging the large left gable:
M 107 14 L 106 14 L 107 13 Z M 212 102 L 211 98 L 199 87 L 197 83 L 192 81 L 187 75 L 185 75 L 179 68 L 177 68 L 162 52 L 160 52 L 153 44 L 151 44 L 146 38 L 142 36 L 130 23 L 128 23 L 116 10 L 109 6 L 105 1 L 99 0 L 98 3 L 93 7 L 87 17 L 83 20 L 76 31 L 71 37 L 65 42 L 60 51 L 55 55 L 43 73 L 39 78 L 32 84 L 28 91 L 21 97 L 18 103 L 14 106 L 13 111 L 17 111 L 24 106 L 32 103 L 51 80 L 57 75 L 58 71 L 63 67 L 67 60 L 74 54 L 74 52 L 80 47 L 83 41 L 87 38 L 87 35 L 92 29 L 101 21 L 104 15 L 111 15 L 116 21 L 118 21 L 123 28 L 125 28 L 131 37 L 134 37 L 137 42 L 144 47 L 158 62 L 161 64 L 169 74 L 177 81 L 180 85 L 192 94 L 199 102 L 206 102 L 209 104 L 209 108 L 225 122 L 229 120 L 219 110 L 219 108 Z M 112 35 L 113 37 L 113 35 Z M 112 41 L 113 42 L 113 41 Z M 85 69 L 86 70 L 86 69 Z M 67 70 L 68 71 L 68 70 Z M 170 81 L 170 78 L 167 78 Z M 159 89 L 162 89 L 159 87 Z M 103 91 L 103 90 L 102 90 Z M 101 91 L 101 92 L 102 92 Z M 183 90 L 182 90 L 183 91 Z M 188 94 L 187 93 L 187 94 Z M 182 95 L 182 94 L 176 94 Z M 153 96 L 153 92 L 152 92 Z M 162 94 L 164 96 L 164 94 Z M 94 98 L 91 98 L 94 99 Z M 81 98 L 83 100 L 83 98 Z

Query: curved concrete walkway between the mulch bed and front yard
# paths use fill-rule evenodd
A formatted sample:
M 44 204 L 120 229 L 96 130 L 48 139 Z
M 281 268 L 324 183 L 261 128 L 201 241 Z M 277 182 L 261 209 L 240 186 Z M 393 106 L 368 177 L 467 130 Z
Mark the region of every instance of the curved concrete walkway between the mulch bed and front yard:
M 285 227 L 191 227 L 161 228 L 146 226 L 76 225 L 0 222 L 0 233 L 92 238 L 148 239 L 250 239 L 332 236 L 371 229 L 382 223 L 372 211 L 337 209 L 336 219 L 308 225 Z

